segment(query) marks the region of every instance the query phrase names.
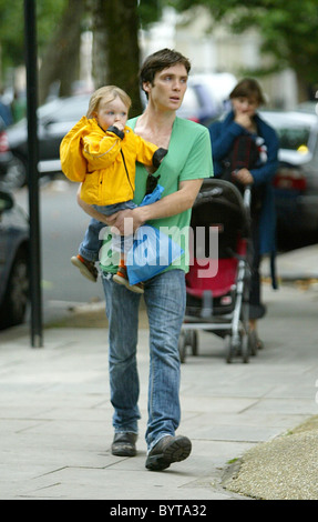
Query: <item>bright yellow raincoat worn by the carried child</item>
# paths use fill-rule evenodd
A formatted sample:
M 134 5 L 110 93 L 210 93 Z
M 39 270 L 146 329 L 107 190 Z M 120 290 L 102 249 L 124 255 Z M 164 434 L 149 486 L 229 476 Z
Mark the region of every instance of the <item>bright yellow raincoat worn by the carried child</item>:
M 133 199 L 135 162 L 158 167 L 160 150 L 130 127 L 104 131 L 95 119 L 83 117 L 63 138 L 60 158 L 66 178 L 82 183 L 81 199 L 106 205 Z

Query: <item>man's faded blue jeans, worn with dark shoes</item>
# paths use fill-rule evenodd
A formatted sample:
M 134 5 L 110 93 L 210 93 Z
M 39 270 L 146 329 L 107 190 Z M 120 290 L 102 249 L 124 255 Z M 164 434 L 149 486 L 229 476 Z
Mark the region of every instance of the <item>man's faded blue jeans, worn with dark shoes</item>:
M 103 279 L 109 318 L 109 364 L 115 432 L 137 433 L 140 416 L 136 347 L 141 295 Z M 144 287 L 150 323 L 148 450 L 179 424 L 178 337 L 185 312 L 185 275 L 163 272 Z

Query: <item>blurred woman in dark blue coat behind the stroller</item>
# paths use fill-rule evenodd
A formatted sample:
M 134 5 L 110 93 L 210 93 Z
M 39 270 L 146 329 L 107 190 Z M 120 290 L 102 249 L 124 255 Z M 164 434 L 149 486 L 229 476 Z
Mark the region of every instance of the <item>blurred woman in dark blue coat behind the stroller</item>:
M 275 204 L 271 180 L 277 170 L 278 137 L 257 113 L 265 103 L 258 82 L 244 79 L 229 94 L 232 110 L 222 121 L 209 127 L 214 175 L 235 182 L 239 188 L 252 187 L 253 262 L 249 290 L 249 328 L 257 348 L 257 320 L 266 313 L 261 303 L 259 265 L 261 257 L 271 258 L 273 287 L 276 288 Z

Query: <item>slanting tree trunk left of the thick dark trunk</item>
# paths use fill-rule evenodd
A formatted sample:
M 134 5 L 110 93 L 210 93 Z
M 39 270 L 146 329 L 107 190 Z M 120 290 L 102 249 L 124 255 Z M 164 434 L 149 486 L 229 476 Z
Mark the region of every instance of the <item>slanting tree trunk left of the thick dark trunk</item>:
M 81 20 L 85 3 L 69 0 L 57 31 L 47 48 L 39 73 L 39 102 L 42 104 L 51 86 L 57 82 L 60 96 L 70 96 L 72 83 L 79 79 Z

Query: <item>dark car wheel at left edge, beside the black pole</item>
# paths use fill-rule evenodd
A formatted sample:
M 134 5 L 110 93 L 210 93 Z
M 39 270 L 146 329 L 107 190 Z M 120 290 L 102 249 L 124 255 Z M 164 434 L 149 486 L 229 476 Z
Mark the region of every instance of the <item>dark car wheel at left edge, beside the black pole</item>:
M 0 328 L 14 327 L 24 321 L 29 300 L 29 268 L 25 250 L 20 250 L 13 262 L 4 300 L 0 309 Z

